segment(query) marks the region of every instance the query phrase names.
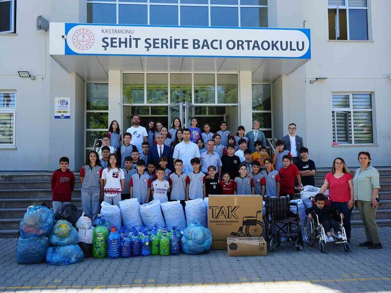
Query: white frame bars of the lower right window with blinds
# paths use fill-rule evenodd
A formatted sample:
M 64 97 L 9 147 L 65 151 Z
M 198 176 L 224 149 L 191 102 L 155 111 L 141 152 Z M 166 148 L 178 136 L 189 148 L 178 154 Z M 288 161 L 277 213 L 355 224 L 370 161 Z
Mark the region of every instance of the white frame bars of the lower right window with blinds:
M 371 108 L 358 108 L 354 109 L 353 108 L 353 95 L 355 94 L 368 94 L 370 95 L 370 102 L 371 102 Z M 333 107 L 333 95 L 348 95 L 349 96 L 349 107 L 348 108 L 334 108 Z M 331 125 L 334 123 L 334 126 L 332 126 L 332 135 L 334 136 L 335 133 L 335 140 L 333 137 L 333 143 L 337 143 L 337 146 L 373 146 L 376 145 L 376 123 L 375 123 L 375 111 L 374 111 L 374 101 L 373 101 L 373 92 L 332 92 L 331 93 L 331 117 L 334 121 L 332 121 Z M 354 141 L 354 112 L 371 112 L 372 116 L 372 142 L 371 143 L 357 143 Z M 348 136 L 351 135 L 351 142 L 338 142 L 338 136 L 337 136 L 337 115 L 336 113 L 348 113 L 350 115 L 350 124 L 348 121 L 348 130 L 349 134 Z

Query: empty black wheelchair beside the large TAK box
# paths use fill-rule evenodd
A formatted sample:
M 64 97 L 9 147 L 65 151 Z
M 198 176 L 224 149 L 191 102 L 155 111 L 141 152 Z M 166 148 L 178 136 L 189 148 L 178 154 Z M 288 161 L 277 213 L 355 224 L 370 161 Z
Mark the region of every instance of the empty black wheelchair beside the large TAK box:
M 296 206 L 296 214 L 291 213 L 290 206 Z M 304 243 L 298 204 L 290 203 L 289 197 L 265 197 L 265 208 L 263 238 L 270 251 L 281 245 L 281 237 L 287 237 L 297 251 L 302 250 Z

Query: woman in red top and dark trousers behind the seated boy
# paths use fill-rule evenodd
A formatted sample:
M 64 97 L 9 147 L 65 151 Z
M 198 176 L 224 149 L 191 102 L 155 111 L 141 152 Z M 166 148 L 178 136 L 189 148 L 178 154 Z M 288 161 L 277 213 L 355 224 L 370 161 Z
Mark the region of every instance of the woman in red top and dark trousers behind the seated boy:
M 336 158 L 333 167 L 331 167 L 331 172 L 327 173 L 325 183 L 319 190 L 319 193 L 324 193 L 328 188 L 331 207 L 344 214 L 344 227 L 349 243 L 351 234 L 350 215 L 354 204 L 352 179 L 353 176 L 349 173 L 344 159 Z

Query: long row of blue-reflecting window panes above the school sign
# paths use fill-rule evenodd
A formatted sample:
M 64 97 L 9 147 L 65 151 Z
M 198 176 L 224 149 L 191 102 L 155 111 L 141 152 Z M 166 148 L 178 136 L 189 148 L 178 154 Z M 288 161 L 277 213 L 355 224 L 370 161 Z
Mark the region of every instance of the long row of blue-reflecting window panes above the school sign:
M 267 27 L 267 0 L 87 0 L 87 22 Z

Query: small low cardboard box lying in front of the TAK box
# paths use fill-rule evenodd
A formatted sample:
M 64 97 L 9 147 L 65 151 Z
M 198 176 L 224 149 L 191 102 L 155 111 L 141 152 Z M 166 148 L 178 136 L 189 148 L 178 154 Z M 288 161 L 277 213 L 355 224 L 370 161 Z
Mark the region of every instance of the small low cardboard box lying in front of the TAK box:
M 227 237 L 228 256 L 264 256 L 267 244 L 263 237 Z

